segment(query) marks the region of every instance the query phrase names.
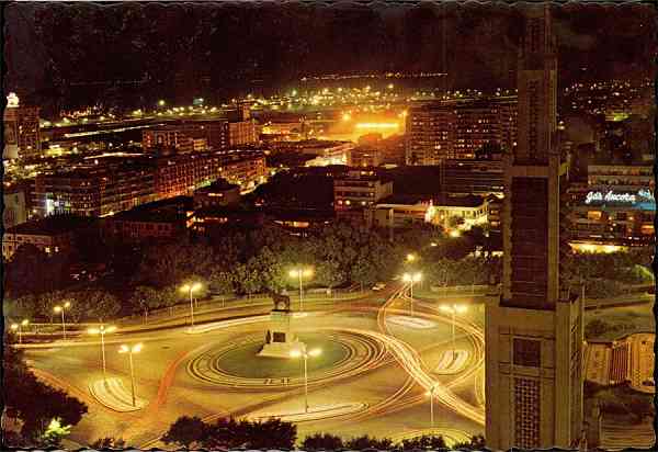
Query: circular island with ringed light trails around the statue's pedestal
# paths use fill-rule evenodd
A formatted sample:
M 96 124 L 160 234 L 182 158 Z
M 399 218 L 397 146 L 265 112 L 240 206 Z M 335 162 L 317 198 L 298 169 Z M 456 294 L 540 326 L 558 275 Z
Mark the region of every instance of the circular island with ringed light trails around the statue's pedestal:
M 304 385 L 299 360 L 258 357 L 263 334 L 241 336 L 230 343 L 209 346 L 190 360 L 188 374 L 197 381 L 226 388 L 271 391 Z M 308 360 L 308 385 L 358 375 L 382 359 L 384 344 L 373 337 L 348 331 L 299 332 L 308 348 L 321 355 Z

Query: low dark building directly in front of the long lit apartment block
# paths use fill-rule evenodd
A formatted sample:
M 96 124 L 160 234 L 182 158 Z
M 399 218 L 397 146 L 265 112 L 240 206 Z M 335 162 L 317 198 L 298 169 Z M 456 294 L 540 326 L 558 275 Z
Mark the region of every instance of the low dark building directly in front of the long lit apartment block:
M 103 234 L 128 242 L 170 240 L 185 235 L 193 214 L 192 197 L 156 201 L 104 218 Z

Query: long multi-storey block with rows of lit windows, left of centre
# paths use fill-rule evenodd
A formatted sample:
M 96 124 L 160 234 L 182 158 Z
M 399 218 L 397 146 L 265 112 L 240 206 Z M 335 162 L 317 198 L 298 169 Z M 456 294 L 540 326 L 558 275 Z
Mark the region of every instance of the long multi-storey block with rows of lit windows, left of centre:
M 218 178 L 249 190 L 266 180 L 261 152 L 201 152 L 160 157 L 99 157 L 35 179 L 41 216 L 75 213 L 106 216 L 152 201 L 191 195 Z

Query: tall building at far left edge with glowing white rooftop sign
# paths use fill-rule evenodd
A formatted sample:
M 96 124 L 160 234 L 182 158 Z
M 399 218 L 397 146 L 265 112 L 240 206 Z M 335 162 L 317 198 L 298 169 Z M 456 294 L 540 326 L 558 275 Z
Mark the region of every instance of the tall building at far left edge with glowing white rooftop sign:
M 41 129 L 37 106 L 20 106 L 13 92 L 7 97 L 2 115 L 5 159 L 41 157 Z

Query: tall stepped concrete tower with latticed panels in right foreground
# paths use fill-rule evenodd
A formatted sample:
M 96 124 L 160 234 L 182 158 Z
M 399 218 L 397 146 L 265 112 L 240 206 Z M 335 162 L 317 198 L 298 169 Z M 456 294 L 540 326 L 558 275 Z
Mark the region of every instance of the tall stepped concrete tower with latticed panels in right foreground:
M 582 302 L 560 284 L 567 163 L 547 4 L 527 5 L 519 137 L 504 156 L 503 280 L 487 304 L 487 447 L 569 448 L 582 427 Z

